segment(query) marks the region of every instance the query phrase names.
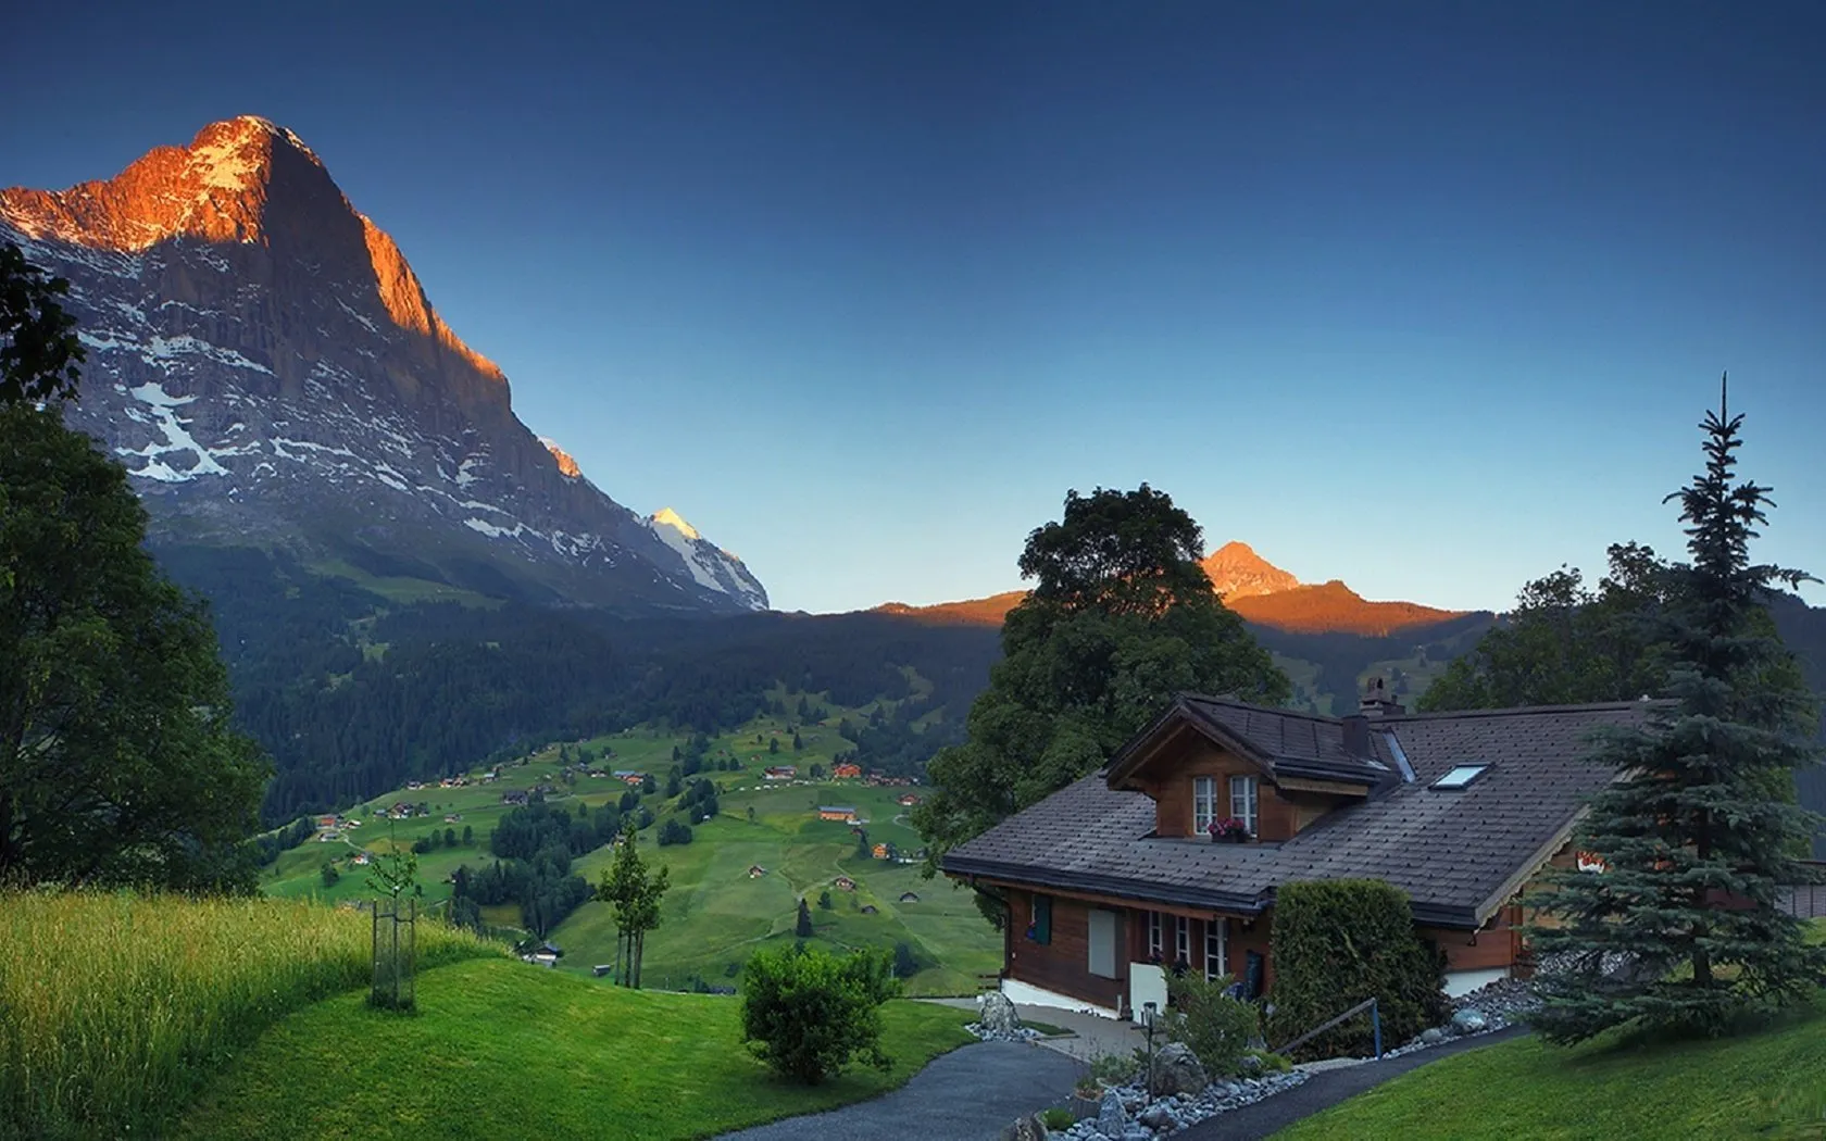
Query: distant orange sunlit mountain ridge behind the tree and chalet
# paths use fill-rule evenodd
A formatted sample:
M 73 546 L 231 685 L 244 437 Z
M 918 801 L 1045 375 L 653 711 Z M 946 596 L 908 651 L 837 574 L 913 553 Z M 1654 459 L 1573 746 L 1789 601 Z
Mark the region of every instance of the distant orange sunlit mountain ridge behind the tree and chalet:
M 1333 579 L 1315 586 L 1302 584 L 1291 573 L 1256 555 L 1245 542 L 1227 542 L 1203 564 L 1211 586 L 1225 606 L 1249 623 L 1286 633 L 1355 633 L 1388 637 L 1426 626 L 1452 623 L 1477 612 L 1439 610 L 1419 602 L 1373 602 Z M 1026 591 L 908 606 L 887 602 L 878 612 L 953 624 L 1001 624 L 1010 610 L 1021 604 Z

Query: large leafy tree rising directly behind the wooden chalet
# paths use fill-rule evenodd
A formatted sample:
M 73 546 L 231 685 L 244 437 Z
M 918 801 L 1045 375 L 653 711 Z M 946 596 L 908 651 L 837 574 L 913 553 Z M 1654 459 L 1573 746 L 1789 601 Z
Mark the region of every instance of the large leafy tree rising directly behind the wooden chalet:
M 1282 703 L 1287 677 L 1223 606 L 1200 566 L 1203 533 L 1163 491 L 1066 493 L 1028 535 L 1034 590 L 1002 624 L 1002 661 L 940 750 L 913 811 L 940 856 L 1101 767 L 1181 692 Z M 992 911 L 993 916 L 993 911 Z

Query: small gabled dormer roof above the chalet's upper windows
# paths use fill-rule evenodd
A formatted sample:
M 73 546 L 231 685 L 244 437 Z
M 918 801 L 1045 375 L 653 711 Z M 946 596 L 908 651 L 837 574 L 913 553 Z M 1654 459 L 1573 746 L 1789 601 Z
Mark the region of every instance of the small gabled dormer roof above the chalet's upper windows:
M 1110 785 L 1127 787 L 1152 748 L 1181 725 L 1196 728 L 1271 778 L 1302 776 L 1357 785 L 1379 785 L 1395 778 L 1388 745 L 1371 734 L 1368 752 L 1351 752 L 1344 743 L 1344 723 L 1335 717 L 1181 694 L 1110 758 Z

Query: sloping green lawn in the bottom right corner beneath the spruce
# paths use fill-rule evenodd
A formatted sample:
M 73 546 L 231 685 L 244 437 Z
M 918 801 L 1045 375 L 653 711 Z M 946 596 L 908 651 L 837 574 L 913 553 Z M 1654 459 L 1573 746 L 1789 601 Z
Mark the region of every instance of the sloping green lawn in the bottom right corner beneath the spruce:
M 1275 1137 L 1826 1137 L 1826 997 L 1740 1037 L 1472 1050 Z

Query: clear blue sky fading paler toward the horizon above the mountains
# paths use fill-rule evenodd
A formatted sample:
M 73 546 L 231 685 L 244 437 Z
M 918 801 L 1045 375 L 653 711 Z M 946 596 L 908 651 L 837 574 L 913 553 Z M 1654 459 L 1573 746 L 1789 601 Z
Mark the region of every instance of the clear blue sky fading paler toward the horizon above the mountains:
M 1012 590 L 1143 480 L 1503 606 L 1678 550 L 1724 369 L 1757 555 L 1826 575 L 1819 4 L 139 7 L 33 15 L 0 184 L 290 126 L 533 431 L 780 608 Z

